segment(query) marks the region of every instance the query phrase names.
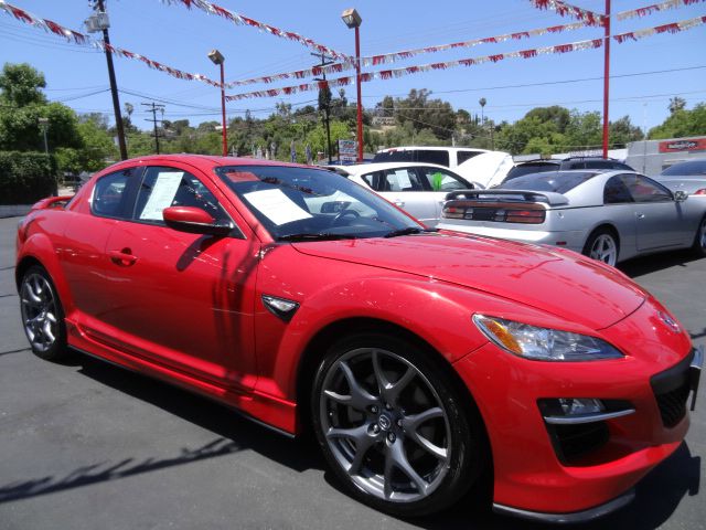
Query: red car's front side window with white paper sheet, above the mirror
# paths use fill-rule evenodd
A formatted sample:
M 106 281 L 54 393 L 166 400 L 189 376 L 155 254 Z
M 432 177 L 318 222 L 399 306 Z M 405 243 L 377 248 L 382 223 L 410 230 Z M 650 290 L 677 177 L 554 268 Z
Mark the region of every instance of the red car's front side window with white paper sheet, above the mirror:
M 175 168 L 149 167 L 135 206 L 136 221 L 163 224 L 162 210 L 193 206 L 210 213 L 216 223 L 229 222 L 216 198 L 193 174 Z

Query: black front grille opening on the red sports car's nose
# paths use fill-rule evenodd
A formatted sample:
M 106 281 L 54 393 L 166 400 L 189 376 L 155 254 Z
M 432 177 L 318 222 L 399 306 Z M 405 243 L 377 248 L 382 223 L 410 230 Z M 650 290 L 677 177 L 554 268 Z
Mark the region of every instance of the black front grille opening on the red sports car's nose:
M 682 362 L 650 380 L 662 424 L 667 428 L 675 426 L 686 415 L 686 400 L 691 391 L 688 367 L 693 358 L 692 351 Z

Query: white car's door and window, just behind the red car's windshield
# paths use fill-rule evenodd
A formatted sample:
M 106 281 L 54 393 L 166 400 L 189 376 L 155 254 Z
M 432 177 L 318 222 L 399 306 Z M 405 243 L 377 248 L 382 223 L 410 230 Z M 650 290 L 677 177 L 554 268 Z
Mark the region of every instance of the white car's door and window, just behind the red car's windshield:
M 438 223 L 435 194 L 425 189 L 414 167 L 392 168 L 361 176 L 363 181 L 393 204 L 422 223 Z

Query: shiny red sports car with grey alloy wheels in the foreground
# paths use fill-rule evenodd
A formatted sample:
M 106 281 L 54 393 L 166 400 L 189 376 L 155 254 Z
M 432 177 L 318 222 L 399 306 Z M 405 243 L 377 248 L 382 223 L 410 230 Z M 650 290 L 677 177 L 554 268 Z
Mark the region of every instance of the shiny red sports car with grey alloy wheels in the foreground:
M 569 251 L 426 229 L 325 170 L 158 156 L 18 230 L 33 351 L 71 349 L 313 430 L 351 495 L 586 520 L 682 443 L 703 350 Z M 693 401 L 692 401 L 693 406 Z

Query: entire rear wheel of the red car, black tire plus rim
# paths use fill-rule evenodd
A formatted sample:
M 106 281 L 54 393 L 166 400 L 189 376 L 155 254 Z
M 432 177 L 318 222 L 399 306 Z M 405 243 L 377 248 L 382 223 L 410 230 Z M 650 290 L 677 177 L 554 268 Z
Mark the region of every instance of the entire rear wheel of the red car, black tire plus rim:
M 66 358 L 66 325 L 58 293 L 46 269 L 28 268 L 20 282 L 22 327 L 35 356 L 57 361 Z

